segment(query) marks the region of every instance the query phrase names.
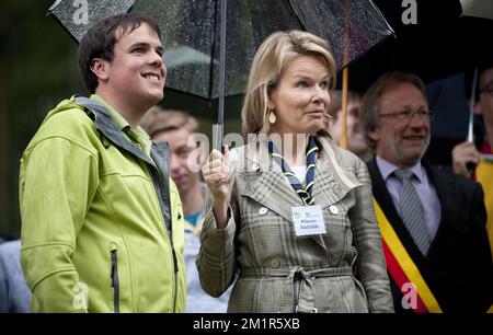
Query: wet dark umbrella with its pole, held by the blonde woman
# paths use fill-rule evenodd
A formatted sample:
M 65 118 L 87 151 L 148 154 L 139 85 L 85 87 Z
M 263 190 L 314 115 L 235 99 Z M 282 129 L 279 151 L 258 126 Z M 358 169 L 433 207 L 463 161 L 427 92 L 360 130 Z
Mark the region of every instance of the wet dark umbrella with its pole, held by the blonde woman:
M 243 93 L 253 56 L 271 33 L 297 28 L 328 39 L 339 68 L 393 33 L 369 0 L 81 2 L 88 4 L 85 12 L 82 7 L 73 7 L 71 1 L 57 1 L 49 9 L 77 41 L 96 20 L 133 11 L 153 18 L 160 25 L 165 62 L 174 60 L 167 50 L 179 58 L 182 55 L 177 51 L 180 48 L 196 56 L 205 55 L 171 68 L 167 88 L 208 100 L 219 99 L 219 142 L 222 138 L 223 99 Z

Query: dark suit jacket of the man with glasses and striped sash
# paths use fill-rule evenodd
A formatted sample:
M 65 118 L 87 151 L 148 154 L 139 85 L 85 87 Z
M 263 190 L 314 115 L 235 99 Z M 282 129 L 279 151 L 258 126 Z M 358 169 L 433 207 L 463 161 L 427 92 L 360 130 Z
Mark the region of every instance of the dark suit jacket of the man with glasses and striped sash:
M 427 256 L 414 244 L 393 206 L 375 158 L 368 162 L 374 196 L 444 312 L 485 312 L 493 302 L 493 265 L 481 185 L 422 161 L 442 204 L 442 219 Z M 425 205 L 426 206 L 426 205 Z M 391 281 L 395 312 L 400 288 Z

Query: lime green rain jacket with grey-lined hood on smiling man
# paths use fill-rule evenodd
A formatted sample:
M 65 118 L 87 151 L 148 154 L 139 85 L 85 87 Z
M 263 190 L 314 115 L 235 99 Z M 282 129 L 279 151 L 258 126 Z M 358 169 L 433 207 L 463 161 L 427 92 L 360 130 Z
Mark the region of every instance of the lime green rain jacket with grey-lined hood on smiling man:
M 96 95 L 62 101 L 21 159 L 34 312 L 185 311 L 184 219 L 167 143 L 140 149 L 138 131 L 112 115 Z

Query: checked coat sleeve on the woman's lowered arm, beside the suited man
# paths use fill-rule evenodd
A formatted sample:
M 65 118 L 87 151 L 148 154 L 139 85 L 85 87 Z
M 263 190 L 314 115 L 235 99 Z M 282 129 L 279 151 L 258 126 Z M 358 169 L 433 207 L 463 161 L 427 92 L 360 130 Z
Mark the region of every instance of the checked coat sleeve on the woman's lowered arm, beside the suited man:
M 393 313 L 393 301 L 382 252 L 382 241 L 371 198 L 371 181 L 365 163 L 356 160 L 355 173 L 363 186 L 355 189 L 356 205 L 349 211 L 353 243 L 359 257 L 356 261 L 371 313 Z

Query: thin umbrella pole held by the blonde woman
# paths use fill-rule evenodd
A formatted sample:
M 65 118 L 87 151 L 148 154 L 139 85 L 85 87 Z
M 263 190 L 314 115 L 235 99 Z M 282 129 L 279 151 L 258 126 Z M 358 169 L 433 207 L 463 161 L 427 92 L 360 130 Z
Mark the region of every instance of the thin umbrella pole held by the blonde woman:
M 222 150 L 222 138 L 225 136 L 225 82 L 226 82 L 226 14 L 227 0 L 220 0 L 220 42 L 219 42 L 219 111 L 217 115 L 216 126 L 216 145 L 215 148 Z

